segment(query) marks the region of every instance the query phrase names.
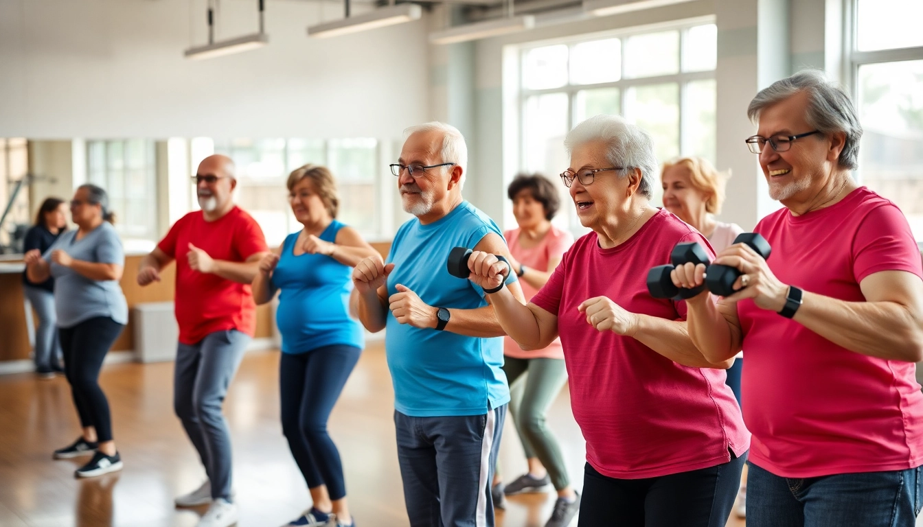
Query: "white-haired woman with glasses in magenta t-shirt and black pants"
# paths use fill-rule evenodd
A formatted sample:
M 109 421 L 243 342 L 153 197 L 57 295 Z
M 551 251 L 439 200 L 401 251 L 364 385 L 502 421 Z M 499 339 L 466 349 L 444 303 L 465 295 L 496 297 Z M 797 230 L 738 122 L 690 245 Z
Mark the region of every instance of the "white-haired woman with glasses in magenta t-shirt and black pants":
M 730 357 L 709 362 L 689 339 L 686 305 L 653 298 L 647 269 L 704 236 L 650 199 L 653 141 L 620 117 L 596 115 L 568 134 L 561 174 L 582 236 L 528 305 L 490 293 L 497 319 L 524 349 L 560 335 L 571 407 L 586 438 L 580 525 L 724 527 L 749 449 L 725 385 Z M 486 290 L 506 265 L 475 252 L 470 280 Z

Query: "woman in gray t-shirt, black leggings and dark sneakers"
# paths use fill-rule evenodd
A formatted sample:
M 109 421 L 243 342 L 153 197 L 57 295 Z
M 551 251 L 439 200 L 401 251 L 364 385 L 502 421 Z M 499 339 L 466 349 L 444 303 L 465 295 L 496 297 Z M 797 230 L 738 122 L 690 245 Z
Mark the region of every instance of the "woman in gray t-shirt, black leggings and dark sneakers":
M 54 451 L 54 459 L 93 454 L 77 470 L 91 477 L 122 469 L 115 449 L 109 402 L 99 385 L 102 360 L 128 321 L 128 307 L 119 280 L 125 251 L 112 226 L 109 199 L 99 186 L 79 186 L 70 202 L 76 231 L 62 234 L 42 255 L 26 253 L 30 281 L 54 277 L 54 305 L 64 353 L 65 374 L 83 434 L 72 445 Z

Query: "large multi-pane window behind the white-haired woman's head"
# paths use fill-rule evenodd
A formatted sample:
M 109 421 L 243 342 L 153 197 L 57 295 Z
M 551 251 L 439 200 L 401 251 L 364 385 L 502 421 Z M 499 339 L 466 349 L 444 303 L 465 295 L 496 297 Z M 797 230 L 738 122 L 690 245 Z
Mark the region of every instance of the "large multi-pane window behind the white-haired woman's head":
M 597 114 L 642 126 L 662 162 L 680 154 L 714 162 L 716 35 L 699 22 L 523 48 L 521 170 L 545 174 L 566 196 L 557 177 L 568 167 L 564 136 Z M 580 233 L 565 210 L 555 222 Z

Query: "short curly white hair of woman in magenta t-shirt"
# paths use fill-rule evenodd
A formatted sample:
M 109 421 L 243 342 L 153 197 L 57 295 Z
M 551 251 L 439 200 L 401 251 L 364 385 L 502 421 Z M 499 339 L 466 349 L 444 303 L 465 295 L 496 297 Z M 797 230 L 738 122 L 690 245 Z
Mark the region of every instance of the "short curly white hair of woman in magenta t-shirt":
M 653 153 L 653 138 L 641 126 L 632 125 L 618 115 L 595 115 L 574 126 L 564 138 L 568 155 L 581 145 L 593 141 L 605 143 L 605 159 L 613 166 L 625 167 L 623 177 L 629 169 L 641 170 L 641 196 L 653 198 L 655 174 L 660 173 L 657 156 Z M 600 167 L 603 168 L 603 167 Z

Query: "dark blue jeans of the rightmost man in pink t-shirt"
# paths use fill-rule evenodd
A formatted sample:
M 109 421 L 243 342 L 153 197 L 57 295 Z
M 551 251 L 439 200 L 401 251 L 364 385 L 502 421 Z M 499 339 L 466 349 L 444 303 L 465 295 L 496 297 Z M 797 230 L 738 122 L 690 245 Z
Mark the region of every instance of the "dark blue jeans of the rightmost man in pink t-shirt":
M 747 527 L 914 527 L 920 468 L 785 478 L 749 463 Z

